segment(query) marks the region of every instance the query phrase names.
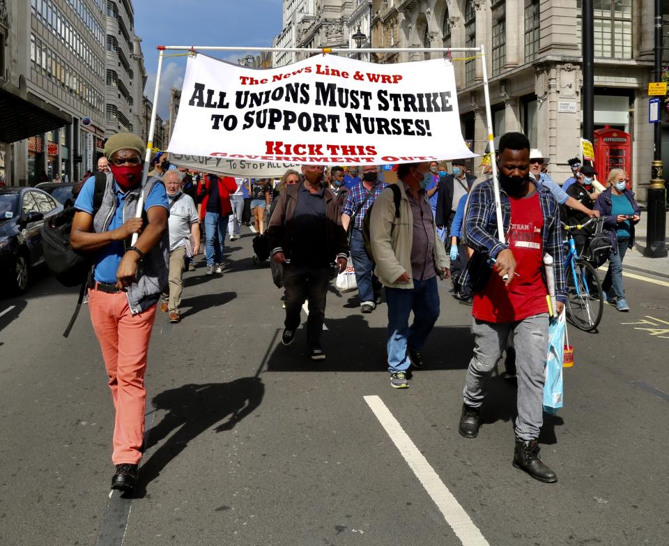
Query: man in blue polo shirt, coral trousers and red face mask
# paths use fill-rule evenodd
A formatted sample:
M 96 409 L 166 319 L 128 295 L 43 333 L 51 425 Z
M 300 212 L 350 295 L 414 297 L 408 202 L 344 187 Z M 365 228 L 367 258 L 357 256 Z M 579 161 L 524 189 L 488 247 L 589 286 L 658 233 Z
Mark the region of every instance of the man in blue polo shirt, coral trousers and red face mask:
M 70 243 L 95 254 L 89 310 L 105 360 L 116 409 L 112 489 L 137 486 L 144 437 L 144 372 L 156 303 L 167 286 L 168 202 L 165 187 L 153 176 L 142 181 L 144 142 L 136 135 L 107 140 L 105 192 L 95 212 L 95 177 L 75 202 Z M 141 218 L 135 218 L 143 199 Z M 132 245 L 132 236 L 138 234 Z

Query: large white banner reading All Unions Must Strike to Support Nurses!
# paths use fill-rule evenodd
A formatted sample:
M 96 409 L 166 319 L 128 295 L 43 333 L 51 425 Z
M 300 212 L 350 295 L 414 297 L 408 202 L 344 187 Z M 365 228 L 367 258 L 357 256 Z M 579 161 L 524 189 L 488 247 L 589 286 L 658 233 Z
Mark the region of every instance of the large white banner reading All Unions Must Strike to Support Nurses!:
M 475 156 L 461 135 L 452 63 L 323 54 L 267 70 L 189 57 L 168 150 L 312 165 Z

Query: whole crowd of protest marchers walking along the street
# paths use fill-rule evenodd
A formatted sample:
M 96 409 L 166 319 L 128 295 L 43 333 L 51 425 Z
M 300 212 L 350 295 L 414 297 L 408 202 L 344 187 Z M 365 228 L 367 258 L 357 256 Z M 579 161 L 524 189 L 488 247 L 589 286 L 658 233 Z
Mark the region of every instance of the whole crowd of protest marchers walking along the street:
M 201 239 L 206 275 L 220 274 L 226 236 L 239 238 L 244 224 L 256 232 L 256 259 L 270 259 L 272 278 L 284 289 L 284 346 L 300 337 L 307 302 L 312 361 L 326 359 L 325 299 L 335 278 L 341 291 L 357 290 L 362 313 L 375 312 L 385 299 L 392 388 L 407 388 L 412 371 L 424 366 L 422 349 L 440 316 L 438 282 L 450 277 L 454 297 L 471 305 L 475 344 L 463 378 L 460 434 L 477 437 L 487 381 L 506 354 L 505 377 L 518 385 L 513 465 L 544 483 L 557 480 L 539 457 L 537 439 L 549 314 L 562 312 L 567 289 L 562 268 L 555 268 L 552 310 L 543 259 L 550 254 L 562 264 L 561 218 L 601 217 L 613 242 L 606 298 L 629 310 L 622 259 L 640 209 L 625 172 L 613 169 L 601 184 L 592 167 L 574 158 L 574 176 L 558 185 L 548 175 L 548 158 L 530 149 L 525 135 L 502 135 L 496 151 L 502 243 L 490 167 L 477 177 L 467 160 L 452 160 L 449 171 L 439 161 L 401 163 L 392 171 L 304 165 L 272 181 L 188 172 L 161 152 L 143 181 L 144 151 L 135 135 L 108 139 L 101 174 L 79 192 L 70 234 L 74 250 L 94 257 L 88 305 L 116 409 L 112 488 L 137 485 L 155 316 L 160 311 L 180 321 L 183 271 L 196 267 Z M 396 180 L 389 183 L 391 173 Z

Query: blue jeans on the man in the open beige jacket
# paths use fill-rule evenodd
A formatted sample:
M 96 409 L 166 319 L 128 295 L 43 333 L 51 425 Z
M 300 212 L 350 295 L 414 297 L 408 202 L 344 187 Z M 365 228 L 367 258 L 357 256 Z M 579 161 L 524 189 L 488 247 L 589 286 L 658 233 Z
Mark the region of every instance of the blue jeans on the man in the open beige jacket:
M 413 289 L 385 287 L 388 304 L 388 371 L 405 372 L 408 349 L 420 351 L 439 318 L 437 278 L 413 280 Z M 413 324 L 409 314 L 413 311 Z

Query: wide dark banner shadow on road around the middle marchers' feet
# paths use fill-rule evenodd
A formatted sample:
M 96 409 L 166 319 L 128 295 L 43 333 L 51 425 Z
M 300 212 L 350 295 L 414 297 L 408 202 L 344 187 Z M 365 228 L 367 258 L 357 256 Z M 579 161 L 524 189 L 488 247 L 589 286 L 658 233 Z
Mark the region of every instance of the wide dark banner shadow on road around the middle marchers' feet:
M 300 328 L 291 347 L 279 344 L 268 360 L 270 372 L 382 372 L 387 370 L 386 328 L 370 328 L 360 314 L 345 319 L 325 319 L 325 362 L 307 359 L 306 331 Z M 464 370 L 474 342 L 469 326 L 437 326 L 430 334 L 423 356 L 425 370 Z

